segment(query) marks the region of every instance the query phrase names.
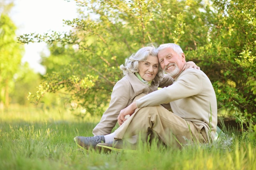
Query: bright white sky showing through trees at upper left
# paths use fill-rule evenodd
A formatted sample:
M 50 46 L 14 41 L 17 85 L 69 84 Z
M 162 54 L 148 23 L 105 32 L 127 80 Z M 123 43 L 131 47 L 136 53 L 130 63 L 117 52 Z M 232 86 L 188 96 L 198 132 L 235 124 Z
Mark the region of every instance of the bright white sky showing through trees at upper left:
M 49 31 L 69 31 L 70 26 L 63 24 L 64 20 L 72 20 L 78 15 L 77 6 L 70 0 L 14 0 L 10 18 L 17 26 L 16 34 L 25 33 L 44 34 Z M 28 62 L 35 72 L 45 73 L 45 68 L 40 65 L 40 53 L 49 55 L 45 43 L 25 44 L 25 55 L 22 62 Z

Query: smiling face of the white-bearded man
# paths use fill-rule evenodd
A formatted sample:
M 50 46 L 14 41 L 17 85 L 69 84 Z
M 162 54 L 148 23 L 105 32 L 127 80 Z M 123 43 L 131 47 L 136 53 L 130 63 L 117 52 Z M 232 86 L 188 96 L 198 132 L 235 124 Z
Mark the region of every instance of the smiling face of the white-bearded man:
M 176 77 L 185 64 L 185 55 L 178 55 L 173 49 L 167 48 L 158 52 L 158 60 L 162 69 L 171 77 Z

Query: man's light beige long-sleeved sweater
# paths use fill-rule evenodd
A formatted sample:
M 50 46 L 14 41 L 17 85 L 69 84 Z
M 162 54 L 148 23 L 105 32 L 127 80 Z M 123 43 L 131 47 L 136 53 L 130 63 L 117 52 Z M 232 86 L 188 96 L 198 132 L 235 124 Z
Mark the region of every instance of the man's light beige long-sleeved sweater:
M 170 102 L 173 113 L 203 125 L 207 134 L 211 130 L 214 139 L 217 128 L 217 100 L 207 75 L 200 70 L 189 68 L 175 77 L 175 82 L 166 88 L 150 93 L 136 100 L 138 108 L 157 106 Z

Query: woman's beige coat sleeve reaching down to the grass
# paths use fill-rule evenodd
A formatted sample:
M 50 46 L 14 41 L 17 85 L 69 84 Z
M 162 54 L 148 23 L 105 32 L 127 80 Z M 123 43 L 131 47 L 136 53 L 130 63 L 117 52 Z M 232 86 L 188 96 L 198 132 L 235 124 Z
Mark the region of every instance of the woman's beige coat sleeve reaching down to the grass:
M 101 121 L 93 129 L 93 135 L 107 135 L 117 123 L 117 117 L 123 108 L 126 108 L 132 101 L 129 101 L 131 85 L 128 79 L 119 80 L 111 94 L 111 100 L 108 109 L 103 113 Z

